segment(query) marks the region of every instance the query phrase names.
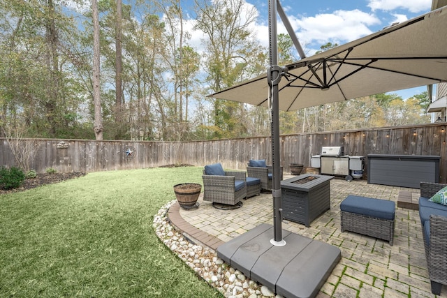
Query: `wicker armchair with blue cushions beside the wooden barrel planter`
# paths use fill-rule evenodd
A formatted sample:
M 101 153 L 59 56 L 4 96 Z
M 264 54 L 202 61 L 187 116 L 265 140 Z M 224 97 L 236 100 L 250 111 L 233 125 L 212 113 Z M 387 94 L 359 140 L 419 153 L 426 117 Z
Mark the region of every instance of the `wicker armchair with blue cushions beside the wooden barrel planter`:
M 216 166 L 214 164 L 210 166 Z M 203 170 L 203 200 L 219 204 L 235 205 L 247 197 L 245 172 L 223 171 L 207 172 Z M 221 165 L 220 165 L 221 168 Z

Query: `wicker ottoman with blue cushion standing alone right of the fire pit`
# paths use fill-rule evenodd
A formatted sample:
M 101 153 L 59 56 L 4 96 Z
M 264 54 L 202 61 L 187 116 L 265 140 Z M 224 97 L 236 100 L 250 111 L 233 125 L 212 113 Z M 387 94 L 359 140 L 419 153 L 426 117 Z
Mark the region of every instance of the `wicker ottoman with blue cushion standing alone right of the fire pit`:
M 393 245 L 395 202 L 348 195 L 340 204 L 342 232 L 351 231 Z

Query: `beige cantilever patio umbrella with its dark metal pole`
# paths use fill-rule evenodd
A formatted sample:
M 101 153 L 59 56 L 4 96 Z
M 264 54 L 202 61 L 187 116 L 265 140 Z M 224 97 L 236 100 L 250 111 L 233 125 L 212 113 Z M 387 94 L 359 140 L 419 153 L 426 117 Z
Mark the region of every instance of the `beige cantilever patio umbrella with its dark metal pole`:
M 255 77 L 212 94 L 213 98 L 272 108 L 272 162 L 274 167 L 274 239 L 281 237 L 279 179 L 279 112 L 323 105 L 361 96 L 447 82 L 447 6 L 412 20 L 335 47 L 286 66 L 277 66 L 277 6 L 269 0 L 270 68 Z M 286 24 L 286 22 L 284 22 Z M 286 24 L 287 27 L 287 24 Z M 289 28 L 287 28 L 289 29 Z M 289 35 L 291 31 L 289 31 Z M 295 43 L 296 45 L 296 43 Z

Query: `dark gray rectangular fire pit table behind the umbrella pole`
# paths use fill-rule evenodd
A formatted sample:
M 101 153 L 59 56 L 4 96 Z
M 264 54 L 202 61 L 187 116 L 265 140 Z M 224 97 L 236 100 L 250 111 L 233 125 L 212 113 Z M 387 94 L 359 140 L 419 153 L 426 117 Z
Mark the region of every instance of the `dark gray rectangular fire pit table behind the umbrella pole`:
M 333 176 L 303 174 L 281 181 L 283 217 L 306 227 L 330 209 Z

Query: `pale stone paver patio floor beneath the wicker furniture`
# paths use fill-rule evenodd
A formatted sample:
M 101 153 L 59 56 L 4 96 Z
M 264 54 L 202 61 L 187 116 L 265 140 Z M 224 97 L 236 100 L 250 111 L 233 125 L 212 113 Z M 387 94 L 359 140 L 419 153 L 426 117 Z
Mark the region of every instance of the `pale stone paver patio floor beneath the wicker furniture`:
M 292 176 L 284 175 L 284 179 Z M 340 203 L 348 195 L 359 195 L 397 202 L 400 191 L 419 193 L 416 188 L 367 184 L 365 180 L 330 180 L 330 209 L 316 218 L 310 227 L 283 221 L 284 230 L 337 246 L 342 259 L 323 284 L 317 297 L 434 297 L 425 260 L 423 235 L 417 210 L 397 207 L 394 244 L 388 241 L 342 232 Z M 214 250 L 223 243 L 263 223 L 272 224 L 272 195 L 261 193 L 233 210 L 219 210 L 212 202 L 198 200 L 198 209 L 170 208 L 169 217 L 193 241 Z M 197 231 L 200 232 L 197 232 Z M 196 237 L 194 237 L 196 235 Z M 299 278 L 299 276 L 297 276 Z M 447 297 L 443 285 L 441 296 Z

